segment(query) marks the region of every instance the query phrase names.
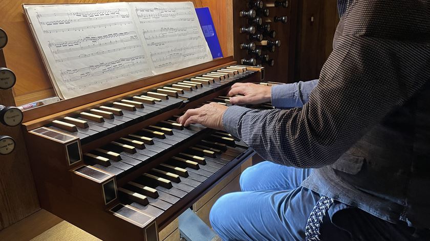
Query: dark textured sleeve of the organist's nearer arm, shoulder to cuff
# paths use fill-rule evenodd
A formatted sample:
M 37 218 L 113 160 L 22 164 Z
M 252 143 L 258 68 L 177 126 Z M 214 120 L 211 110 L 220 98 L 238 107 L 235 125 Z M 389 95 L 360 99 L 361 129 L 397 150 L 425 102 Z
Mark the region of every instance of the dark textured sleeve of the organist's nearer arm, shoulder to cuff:
M 430 8 L 424 5 L 419 0 L 354 1 L 308 103 L 267 111 L 231 106 L 223 118 L 226 130 L 278 164 L 318 168 L 334 163 L 430 82 L 430 39 L 417 38 L 430 36 Z

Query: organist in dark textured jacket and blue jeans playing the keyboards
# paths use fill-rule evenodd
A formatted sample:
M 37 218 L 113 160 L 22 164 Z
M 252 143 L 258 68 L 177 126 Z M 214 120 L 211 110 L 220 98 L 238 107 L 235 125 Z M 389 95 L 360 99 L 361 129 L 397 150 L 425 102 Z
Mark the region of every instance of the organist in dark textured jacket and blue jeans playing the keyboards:
M 269 160 L 213 206 L 223 240 L 430 239 L 430 3 L 338 5 L 319 80 L 235 84 L 229 94 L 244 97 L 231 103 L 277 109 L 211 103 L 178 119 L 225 129 Z

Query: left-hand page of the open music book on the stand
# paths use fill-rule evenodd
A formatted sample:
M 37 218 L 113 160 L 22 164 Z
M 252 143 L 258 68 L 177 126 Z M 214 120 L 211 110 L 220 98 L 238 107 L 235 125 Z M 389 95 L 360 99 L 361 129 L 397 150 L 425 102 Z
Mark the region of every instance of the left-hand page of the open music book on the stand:
M 152 75 L 127 3 L 26 5 L 60 98 Z

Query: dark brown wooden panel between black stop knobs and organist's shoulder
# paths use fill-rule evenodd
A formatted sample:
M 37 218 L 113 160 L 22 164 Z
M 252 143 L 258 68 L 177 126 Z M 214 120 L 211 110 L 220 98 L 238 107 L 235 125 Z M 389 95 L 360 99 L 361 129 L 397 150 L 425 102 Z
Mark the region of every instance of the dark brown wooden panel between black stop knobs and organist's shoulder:
M 339 21 L 336 0 L 303 0 L 298 11 L 294 81 L 316 79 L 332 51 Z

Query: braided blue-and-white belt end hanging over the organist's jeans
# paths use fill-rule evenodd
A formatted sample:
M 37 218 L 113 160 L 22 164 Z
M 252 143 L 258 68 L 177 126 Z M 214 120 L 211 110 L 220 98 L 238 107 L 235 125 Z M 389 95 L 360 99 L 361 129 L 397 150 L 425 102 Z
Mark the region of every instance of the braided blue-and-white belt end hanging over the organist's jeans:
M 321 199 L 316 203 L 306 223 L 306 241 L 320 240 L 319 228 L 322 224 L 322 218 L 324 218 L 333 202 L 333 199 L 321 196 Z

